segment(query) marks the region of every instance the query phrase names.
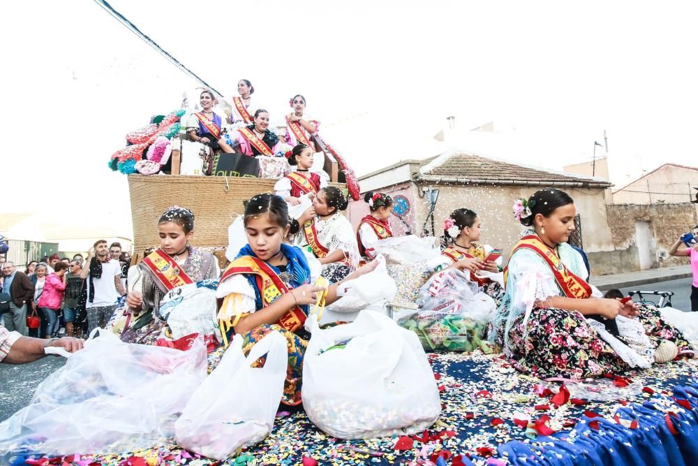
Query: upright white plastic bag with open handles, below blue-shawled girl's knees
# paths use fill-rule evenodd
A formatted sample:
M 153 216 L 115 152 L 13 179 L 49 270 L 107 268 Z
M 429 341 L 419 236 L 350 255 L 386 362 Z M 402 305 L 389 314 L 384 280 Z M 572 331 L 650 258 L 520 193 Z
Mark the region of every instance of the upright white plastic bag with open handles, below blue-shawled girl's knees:
M 262 367 L 251 367 L 262 357 Z M 179 446 L 225 460 L 241 446 L 265 439 L 274 428 L 286 365 L 286 340 L 281 333 L 269 333 L 247 356 L 242 352 L 242 335 L 235 335 L 221 363 L 177 419 L 174 430 Z

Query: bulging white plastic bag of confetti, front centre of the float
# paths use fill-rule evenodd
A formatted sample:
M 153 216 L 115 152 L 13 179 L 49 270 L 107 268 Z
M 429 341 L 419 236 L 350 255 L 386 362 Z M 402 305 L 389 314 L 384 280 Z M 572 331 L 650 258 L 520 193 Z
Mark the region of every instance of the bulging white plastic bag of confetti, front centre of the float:
M 414 333 L 378 312 L 312 335 L 303 363 L 303 407 L 310 420 L 340 439 L 423 432 L 441 403 L 431 366 Z

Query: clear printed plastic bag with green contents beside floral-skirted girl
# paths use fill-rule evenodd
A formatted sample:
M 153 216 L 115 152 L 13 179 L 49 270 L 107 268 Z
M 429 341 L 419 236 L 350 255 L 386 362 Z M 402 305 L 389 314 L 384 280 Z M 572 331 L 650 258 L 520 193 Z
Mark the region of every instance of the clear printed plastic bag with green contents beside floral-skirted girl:
M 431 277 L 419 290 L 419 309 L 403 316 L 399 324 L 412 330 L 427 351 L 470 352 L 496 349 L 487 341 L 489 321 L 496 305 L 487 294 L 478 291 L 468 275 L 448 269 Z

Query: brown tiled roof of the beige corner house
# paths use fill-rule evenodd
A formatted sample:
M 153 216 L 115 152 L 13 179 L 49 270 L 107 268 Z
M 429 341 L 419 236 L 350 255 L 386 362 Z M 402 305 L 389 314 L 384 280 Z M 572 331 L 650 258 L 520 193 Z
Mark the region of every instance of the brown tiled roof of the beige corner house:
M 609 187 L 608 180 L 560 173 L 516 163 L 489 159 L 465 152 L 447 152 L 436 160 L 424 163 L 417 174 L 418 180 L 493 183 L 497 184 L 570 184 Z

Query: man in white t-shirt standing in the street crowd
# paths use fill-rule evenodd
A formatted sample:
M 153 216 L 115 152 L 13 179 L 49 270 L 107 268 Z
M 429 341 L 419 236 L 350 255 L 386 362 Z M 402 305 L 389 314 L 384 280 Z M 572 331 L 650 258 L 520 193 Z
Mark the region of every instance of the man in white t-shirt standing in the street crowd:
M 90 249 L 80 276 L 87 285 L 87 325 L 88 334 L 93 328 L 107 325 L 111 319 L 119 296 L 123 296 L 121 285 L 121 265 L 109 257 L 105 240 L 98 240 Z

